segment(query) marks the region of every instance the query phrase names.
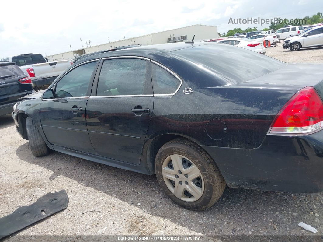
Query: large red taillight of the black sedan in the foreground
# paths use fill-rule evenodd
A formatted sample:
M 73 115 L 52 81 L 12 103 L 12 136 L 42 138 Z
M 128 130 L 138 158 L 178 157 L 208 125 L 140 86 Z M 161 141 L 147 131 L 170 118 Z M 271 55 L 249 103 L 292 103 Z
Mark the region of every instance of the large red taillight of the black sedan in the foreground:
M 323 102 L 313 87 L 299 90 L 279 111 L 270 133 L 310 133 L 323 127 Z

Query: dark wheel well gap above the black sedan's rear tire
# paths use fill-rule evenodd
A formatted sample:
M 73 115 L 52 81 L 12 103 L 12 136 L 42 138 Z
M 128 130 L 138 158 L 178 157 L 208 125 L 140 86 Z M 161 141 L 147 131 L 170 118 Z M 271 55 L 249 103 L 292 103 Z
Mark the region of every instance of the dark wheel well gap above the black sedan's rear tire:
M 190 139 L 187 139 L 186 137 L 183 137 L 177 134 L 162 134 L 152 140 L 152 142 L 149 145 L 149 149 L 146 153 L 147 165 L 151 170 L 152 174 L 155 174 L 155 159 L 156 159 L 157 152 L 159 151 L 161 146 L 176 138 L 190 140 Z

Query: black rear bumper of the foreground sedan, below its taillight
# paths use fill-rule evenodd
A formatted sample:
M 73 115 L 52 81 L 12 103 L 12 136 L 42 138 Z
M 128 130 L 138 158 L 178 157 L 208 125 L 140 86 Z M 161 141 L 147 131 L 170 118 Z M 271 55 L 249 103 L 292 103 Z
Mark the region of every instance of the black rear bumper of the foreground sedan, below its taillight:
M 230 187 L 323 191 L 323 130 L 298 137 L 267 135 L 256 149 L 203 148 L 214 158 Z

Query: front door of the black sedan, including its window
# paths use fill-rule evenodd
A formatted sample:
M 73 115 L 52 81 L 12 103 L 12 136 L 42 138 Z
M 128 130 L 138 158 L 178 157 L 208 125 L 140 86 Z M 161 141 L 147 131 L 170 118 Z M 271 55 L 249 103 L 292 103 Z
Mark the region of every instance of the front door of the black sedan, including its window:
M 98 61 L 93 61 L 71 69 L 53 86 L 55 98 L 42 100 L 40 121 L 51 144 L 95 153 L 85 110 L 97 67 Z

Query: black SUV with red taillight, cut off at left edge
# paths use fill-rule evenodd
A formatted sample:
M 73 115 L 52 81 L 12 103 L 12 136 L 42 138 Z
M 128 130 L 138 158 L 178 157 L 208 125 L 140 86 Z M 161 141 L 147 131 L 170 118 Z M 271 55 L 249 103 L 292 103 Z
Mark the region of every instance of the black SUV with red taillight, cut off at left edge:
M 31 79 L 15 62 L 0 62 L 0 116 L 12 113 L 18 98 L 33 92 Z

